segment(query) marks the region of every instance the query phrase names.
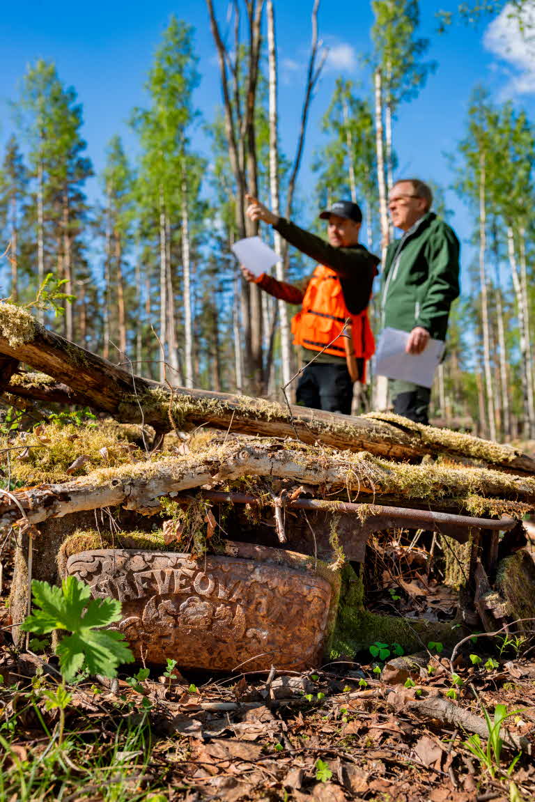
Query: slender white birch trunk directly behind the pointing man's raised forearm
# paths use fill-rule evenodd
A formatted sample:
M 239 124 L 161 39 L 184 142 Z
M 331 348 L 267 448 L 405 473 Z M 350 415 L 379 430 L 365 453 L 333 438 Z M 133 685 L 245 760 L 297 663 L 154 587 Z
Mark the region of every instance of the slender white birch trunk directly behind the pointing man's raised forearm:
M 278 101 L 277 101 L 277 48 L 275 38 L 275 20 L 273 0 L 267 0 L 268 22 L 268 59 L 270 71 L 270 200 L 274 214 L 280 212 L 279 182 L 278 182 Z M 282 253 L 281 235 L 274 231 L 275 252 L 279 261 L 275 265 L 275 273 L 279 282 L 285 280 L 285 265 Z M 282 384 L 290 382 L 290 321 L 286 302 L 278 302 L 278 320 L 281 331 L 281 368 Z

